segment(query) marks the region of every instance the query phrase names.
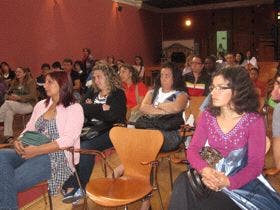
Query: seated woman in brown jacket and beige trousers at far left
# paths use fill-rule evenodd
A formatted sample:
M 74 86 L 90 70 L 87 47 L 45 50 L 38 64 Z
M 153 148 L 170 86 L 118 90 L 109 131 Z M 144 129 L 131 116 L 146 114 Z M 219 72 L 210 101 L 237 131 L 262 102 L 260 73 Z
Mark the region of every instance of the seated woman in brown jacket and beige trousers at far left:
M 4 104 L 0 107 L 0 122 L 4 122 L 4 137 L 0 143 L 8 142 L 13 138 L 13 121 L 15 114 L 29 114 L 37 101 L 36 83 L 30 78 L 27 68 L 18 67 L 16 78 Z

